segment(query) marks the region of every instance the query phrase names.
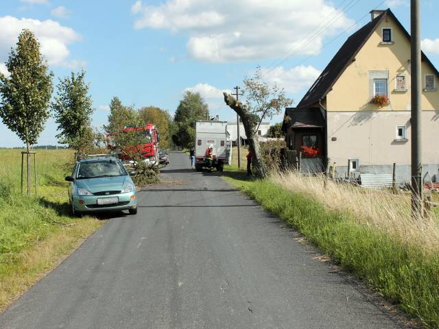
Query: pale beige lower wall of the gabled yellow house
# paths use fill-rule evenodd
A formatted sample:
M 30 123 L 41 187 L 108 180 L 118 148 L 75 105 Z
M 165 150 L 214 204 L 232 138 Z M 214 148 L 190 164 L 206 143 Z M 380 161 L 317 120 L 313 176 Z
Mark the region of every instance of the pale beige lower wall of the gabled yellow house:
M 363 165 L 410 164 L 410 111 L 327 112 L 328 156 L 338 166 L 348 158 Z M 439 164 L 439 111 L 423 111 L 423 162 Z M 396 125 L 405 125 L 407 141 L 395 141 Z M 332 139 L 336 138 L 336 141 Z

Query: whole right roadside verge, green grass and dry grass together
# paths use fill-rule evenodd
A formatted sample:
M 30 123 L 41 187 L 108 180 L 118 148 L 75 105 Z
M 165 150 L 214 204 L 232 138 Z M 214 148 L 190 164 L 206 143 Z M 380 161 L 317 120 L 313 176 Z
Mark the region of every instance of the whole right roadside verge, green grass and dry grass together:
M 290 175 L 248 180 L 244 172 L 229 170 L 226 180 L 302 232 L 309 243 L 427 328 L 439 328 L 439 230 L 434 217 L 412 221 L 407 199 L 395 202 L 397 197 L 382 192 L 352 195 L 350 186 L 331 182 L 324 187 L 321 180 Z

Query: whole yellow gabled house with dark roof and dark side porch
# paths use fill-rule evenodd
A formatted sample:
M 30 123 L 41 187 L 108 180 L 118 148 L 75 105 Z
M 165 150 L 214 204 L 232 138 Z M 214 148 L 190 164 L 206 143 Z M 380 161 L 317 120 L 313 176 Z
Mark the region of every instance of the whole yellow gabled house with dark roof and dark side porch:
M 410 34 L 390 9 L 351 35 L 284 121 L 289 149 L 314 147 L 346 173 L 410 182 Z M 439 181 L 439 72 L 422 54 L 423 171 Z M 350 168 L 348 169 L 348 164 Z

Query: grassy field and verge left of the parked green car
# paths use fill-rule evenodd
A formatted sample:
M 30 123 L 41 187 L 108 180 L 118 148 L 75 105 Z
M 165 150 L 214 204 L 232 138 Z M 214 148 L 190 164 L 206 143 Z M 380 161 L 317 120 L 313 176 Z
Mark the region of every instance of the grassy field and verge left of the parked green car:
M 38 150 L 38 196 L 21 195 L 21 150 L 0 149 L 0 309 L 102 225 L 69 217 L 69 150 Z M 34 191 L 34 190 L 33 190 Z

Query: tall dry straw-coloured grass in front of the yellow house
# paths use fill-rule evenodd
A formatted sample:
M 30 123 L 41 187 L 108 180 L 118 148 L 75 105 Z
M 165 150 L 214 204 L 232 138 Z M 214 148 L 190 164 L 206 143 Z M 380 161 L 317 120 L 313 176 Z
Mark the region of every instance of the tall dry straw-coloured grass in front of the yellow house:
M 410 195 L 340 184 L 324 175 L 300 175 L 296 171 L 274 172 L 269 180 L 331 210 L 349 212 L 357 223 L 377 228 L 403 243 L 420 246 L 427 252 L 439 251 L 437 218 L 433 214 L 412 217 Z

